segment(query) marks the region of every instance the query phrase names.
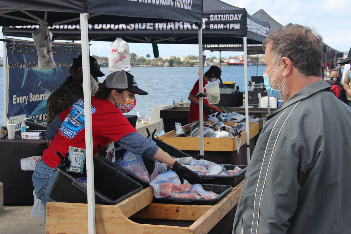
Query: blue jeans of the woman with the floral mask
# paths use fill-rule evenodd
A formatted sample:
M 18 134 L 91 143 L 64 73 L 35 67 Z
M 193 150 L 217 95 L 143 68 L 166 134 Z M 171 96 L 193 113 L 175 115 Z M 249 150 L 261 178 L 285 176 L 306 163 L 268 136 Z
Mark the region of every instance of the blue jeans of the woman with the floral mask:
M 33 187 L 35 195 L 41 200 L 44 209 L 44 225 L 45 225 L 45 211 L 46 202 L 52 202 L 53 199 L 49 198 L 49 192 L 52 184 L 54 183 L 57 170 L 46 165 L 43 160 L 40 160 L 34 169 L 32 175 Z

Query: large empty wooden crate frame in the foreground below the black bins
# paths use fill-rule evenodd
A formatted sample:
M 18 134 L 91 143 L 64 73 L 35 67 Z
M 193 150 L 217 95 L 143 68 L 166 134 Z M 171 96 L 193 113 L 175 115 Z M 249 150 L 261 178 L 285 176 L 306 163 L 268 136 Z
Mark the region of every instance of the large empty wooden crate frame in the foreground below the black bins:
M 147 187 L 117 205 L 95 205 L 97 234 L 206 234 L 239 202 L 245 179 L 214 206 L 152 203 L 154 191 Z M 88 233 L 88 207 L 81 203 L 48 202 L 46 234 Z M 148 225 L 128 218 L 191 220 L 189 227 Z

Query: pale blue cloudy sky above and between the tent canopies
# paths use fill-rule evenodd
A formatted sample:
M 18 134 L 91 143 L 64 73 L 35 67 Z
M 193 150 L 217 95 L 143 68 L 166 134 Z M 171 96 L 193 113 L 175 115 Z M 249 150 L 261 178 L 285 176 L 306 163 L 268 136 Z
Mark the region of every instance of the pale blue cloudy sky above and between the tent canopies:
M 314 27 L 322 35 L 325 44 L 338 51 L 349 51 L 351 46 L 351 0 L 222 0 L 236 7 L 245 8 L 253 15 L 260 9 L 269 14 L 283 26 L 292 23 Z M 1 27 L 0 27 L 1 28 Z M 1 28 L 2 30 L 2 28 Z M 0 32 L 2 38 L 2 32 Z M 32 40 L 25 38 L 25 40 Z M 78 41 L 75 41 L 78 42 Z M 91 41 L 90 54 L 107 56 L 111 42 Z M 164 45 L 158 44 L 160 57 L 177 57 L 198 55 L 198 45 Z M 129 43 L 130 53 L 138 56 L 150 54 L 153 58 L 152 45 Z M 0 46 L 2 57 L 3 47 Z M 228 58 L 244 54 L 243 52 L 221 52 L 221 56 Z M 219 57 L 219 52 L 205 51 L 204 55 Z

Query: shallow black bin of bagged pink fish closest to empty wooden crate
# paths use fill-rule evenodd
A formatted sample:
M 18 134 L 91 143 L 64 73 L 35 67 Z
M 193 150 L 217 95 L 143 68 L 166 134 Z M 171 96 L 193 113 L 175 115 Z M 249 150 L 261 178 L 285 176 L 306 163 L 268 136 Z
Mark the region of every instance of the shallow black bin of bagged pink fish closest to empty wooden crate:
M 201 186 L 206 191 L 212 191 L 214 193 L 219 194 L 217 198 L 214 199 L 197 199 L 197 198 L 154 198 L 154 203 L 166 203 L 166 204 L 184 204 L 184 205 L 207 205 L 213 206 L 215 205 L 223 196 L 229 193 L 232 190 L 232 186 L 230 185 L 208 185 L 201 184 Z

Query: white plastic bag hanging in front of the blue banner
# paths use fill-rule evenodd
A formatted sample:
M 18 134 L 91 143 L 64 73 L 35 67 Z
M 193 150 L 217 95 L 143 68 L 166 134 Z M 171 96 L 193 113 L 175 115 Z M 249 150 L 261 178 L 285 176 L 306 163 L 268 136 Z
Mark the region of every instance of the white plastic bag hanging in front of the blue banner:
M 32 36 L 35 47 L 37 47 L 39 70 L 54 68 L 56 63 L 51 51 L 52 33 L 47 29 L 46 25 L 42 25 L 32 33 Z

